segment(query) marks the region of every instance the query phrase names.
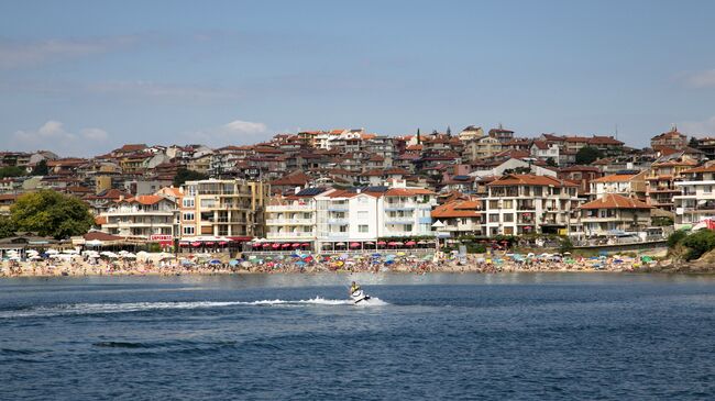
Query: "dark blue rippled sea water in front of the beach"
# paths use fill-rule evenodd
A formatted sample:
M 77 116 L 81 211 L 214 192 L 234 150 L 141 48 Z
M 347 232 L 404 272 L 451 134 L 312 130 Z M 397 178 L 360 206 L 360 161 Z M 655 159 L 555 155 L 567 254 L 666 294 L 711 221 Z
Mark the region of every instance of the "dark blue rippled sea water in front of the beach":
M 2 400 L 712 400 L 715 277 L 2 279 L 0 378 Z

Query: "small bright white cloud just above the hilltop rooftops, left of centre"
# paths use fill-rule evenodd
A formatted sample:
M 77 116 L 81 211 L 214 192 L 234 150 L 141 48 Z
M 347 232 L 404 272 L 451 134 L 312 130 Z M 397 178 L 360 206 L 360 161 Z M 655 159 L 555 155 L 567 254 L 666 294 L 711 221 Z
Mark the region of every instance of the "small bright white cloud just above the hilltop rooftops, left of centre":
M 183 135 L 186 143 L 201 143 L 209 146 L 244 145 L 268 138 L 268 127 L 264 123 L 233 120 L 218 127 Z

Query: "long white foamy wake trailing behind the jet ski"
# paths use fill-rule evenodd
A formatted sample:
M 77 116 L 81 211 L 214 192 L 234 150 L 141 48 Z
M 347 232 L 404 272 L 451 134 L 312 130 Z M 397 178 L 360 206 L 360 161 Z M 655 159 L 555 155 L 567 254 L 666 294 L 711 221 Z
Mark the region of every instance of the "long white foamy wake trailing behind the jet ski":
M 21 310 L 0 311 L 0 319 L 52 318 L 78 314 L 129 313 L 155 310 L 211 309 L 226 307 L 300 307 L 300 305 L 352 305 L 350 300 L 332 300 L 316 297 L 308 300 L 261 300 L 261 301 L 195 301 L 195 302 L 131 302 L 131 303 L 72 303 L 52 307 L 32 307 Z M 360 307 L 382 307 L 387 302 L 378 298 L 361 302 Z

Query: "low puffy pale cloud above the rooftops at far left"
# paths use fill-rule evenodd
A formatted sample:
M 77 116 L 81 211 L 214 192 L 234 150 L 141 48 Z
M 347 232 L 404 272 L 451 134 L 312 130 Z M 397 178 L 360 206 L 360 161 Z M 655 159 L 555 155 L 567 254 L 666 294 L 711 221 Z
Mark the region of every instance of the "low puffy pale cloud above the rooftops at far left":
M 108 137 L 107 131 L 101 129 L 90 127 L 73 133 L 65 130 L 62 122 L 50 120 L 37 130 L 15 131 L 12 134 L 12 148 L 28 152 L 47 149 L 61 156 L 88 156 L 98 151 L 98 146 L 105 146 Z

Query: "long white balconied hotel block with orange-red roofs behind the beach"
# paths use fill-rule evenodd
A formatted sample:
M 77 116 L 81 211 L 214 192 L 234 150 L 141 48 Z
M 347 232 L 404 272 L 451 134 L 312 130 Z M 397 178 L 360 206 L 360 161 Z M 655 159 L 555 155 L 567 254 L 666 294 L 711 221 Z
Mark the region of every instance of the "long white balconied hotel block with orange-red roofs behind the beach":
M 374 247 L 380 238 L 431 235 L 436 194 L 422 188 L 309 188 L 266 207 L 265 243 L 310 242 L 315 249 Z M 287 247 L 287 246 L 286 246 Z

